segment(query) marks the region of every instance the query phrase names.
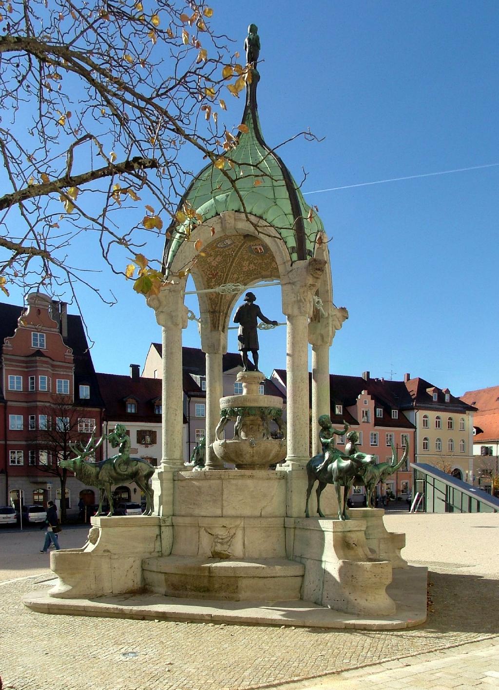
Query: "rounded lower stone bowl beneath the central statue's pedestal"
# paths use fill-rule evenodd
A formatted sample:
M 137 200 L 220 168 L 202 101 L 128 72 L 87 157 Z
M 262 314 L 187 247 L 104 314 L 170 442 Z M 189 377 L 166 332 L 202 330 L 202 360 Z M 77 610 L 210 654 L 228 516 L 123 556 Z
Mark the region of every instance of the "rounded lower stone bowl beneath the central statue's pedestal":
M 268 469 L 269 465 L 282 462 L 286 457 L 285 440 L 273 438 L 232 439 L 214 441 L 212 448 L 216 457 L 234 464 L 238 470 Z

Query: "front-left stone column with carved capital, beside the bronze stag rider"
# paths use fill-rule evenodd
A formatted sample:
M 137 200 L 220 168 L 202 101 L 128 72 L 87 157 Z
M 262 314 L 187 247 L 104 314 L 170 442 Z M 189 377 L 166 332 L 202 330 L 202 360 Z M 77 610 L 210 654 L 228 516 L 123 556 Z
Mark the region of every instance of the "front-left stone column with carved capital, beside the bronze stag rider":
M 152 487 L 155 512 L 167 516 L 173 514 L 173 473 L 183 469 L 182 329 L 187 326 L 187 308 L 183 304 L 179 285 L 162 288 L 159 295 L 147 298 L 147 304 L 154 309 L 156 321 L 163 327 L 163 457 L 161 467 L 153 477 Z

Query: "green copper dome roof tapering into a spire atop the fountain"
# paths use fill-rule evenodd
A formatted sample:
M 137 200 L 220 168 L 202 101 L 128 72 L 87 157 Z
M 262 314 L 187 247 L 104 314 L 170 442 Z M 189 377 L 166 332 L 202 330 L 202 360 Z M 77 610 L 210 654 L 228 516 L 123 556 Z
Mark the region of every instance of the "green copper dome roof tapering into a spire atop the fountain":
M 253 64 L 256 66 L 256 61 Z M 252 83 L 246 86 L 243 112 L 247 131 L 243 128 L 236 146 L 225 154 L 234 168 L 226 163 L 224 172 L 230 175 L 238 193 L 224 172 L 210 162 L 192 181 L 180 208 L 187 203 L 203 217 L 203 222 L 227 210 L 246 211 L 261 218 L 281 235 L 291 262 L 295 262 L 314 255 L 316 236 L 323 230 L 323 224 L 315 211 L 310 213 L 310 206 L 281 158 L 265 144 L 256 105 L 259 78 L 254 68 Z M 164 257 L 167 270 L 185 239 L 184 228 L 185 224 L 169 228 L 171 237 Z

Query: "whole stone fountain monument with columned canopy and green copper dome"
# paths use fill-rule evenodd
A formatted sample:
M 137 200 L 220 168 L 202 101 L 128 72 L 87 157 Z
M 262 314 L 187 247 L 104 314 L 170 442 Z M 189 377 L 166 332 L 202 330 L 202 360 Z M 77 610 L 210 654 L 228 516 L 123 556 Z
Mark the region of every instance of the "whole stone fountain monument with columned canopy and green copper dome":
M 383 511 L 333 519 L 338 506 L 334 493 L 325 491 L 326 517 L 304 515 L 308 346 L 316 455 L 318 420 L 330 407 L 329 347 L 348 313 L 333 303 L 323 224 L 263 139 L 257 45 L 259 50 L 252 25 L 246 43 L 252 79 L 244 127 L 225 154 L 231 166 L 219 170 L 210 162 L 185 192 L 181 206 L 194 209 L 202 222 L 190 226 L 186 219 L 168 228 L 167 281 L 159 295 L 147 299 L 163 328 L 165 355 L 163 457 L 152 478 L 154 514 L 92 518 L 82 549 L 51 553 L 57 584 L 25 599 L 37 611 L 366 629 L 425 620 L 425 569 L 408 568 L 400 558 L 403 537 L 387 533 Z M 185 471 L 183 464 L 185 266 L 198 294 L 206 359 L 206 459 L 204 471 L 196 472 Z M 222 391 L 230 315 L 247 288 L 262 281 L 281 286 L 286 428 L 281 398 L 260 395 L 263 375 L 248 371 L 248 352 L 258 369 L 258 343 L 255 347 L 251 337 L 240 340 L 243 395 L 223 397 Z M 241 319 L 237 322 L 241 326 Z M 232 439 L 223 437 L 228 420 L 235 422 Z M 282 431 L 279 438 L 269 433 L 272 421 Z M 276 463 L 276 471 L 268 469 Z M 311 515 L 314 500 L 312 495 Z

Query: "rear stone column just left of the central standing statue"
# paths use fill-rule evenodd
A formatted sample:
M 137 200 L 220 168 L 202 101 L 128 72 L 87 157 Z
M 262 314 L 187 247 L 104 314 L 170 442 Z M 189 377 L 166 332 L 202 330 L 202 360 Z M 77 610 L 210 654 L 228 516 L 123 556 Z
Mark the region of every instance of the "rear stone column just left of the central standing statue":
M 220 421 L 223 396 L 222 355 L 227 352 L 227 333 L 207 331 L 201 326 L 201 348 L 206 354 L 206 464 L 207 470 L 223 469 L 223 462 L 213 452 L 215 428 Z

